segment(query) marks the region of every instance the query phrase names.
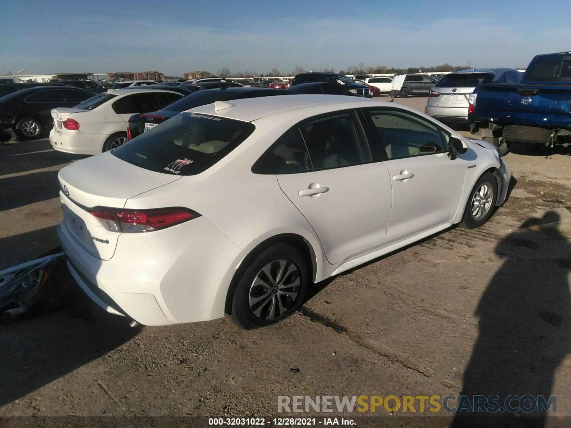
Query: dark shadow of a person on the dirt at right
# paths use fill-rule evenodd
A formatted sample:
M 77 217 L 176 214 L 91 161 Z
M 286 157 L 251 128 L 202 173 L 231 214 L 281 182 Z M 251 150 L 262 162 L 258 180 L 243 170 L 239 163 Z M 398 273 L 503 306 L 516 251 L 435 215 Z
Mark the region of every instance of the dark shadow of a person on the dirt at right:
M 557 212 L 546 212 L 525 221 L 495 248 L 505 261 L 475 312 L 479 332 L 461 392 L 471 401 L 476 394 L 498 395 L 499 407 L 509 395 L 543 395 L 549 401 L 554 373 L 571 345 L 571 244 L 559 223 Z M 518 406 L 518 401 L 509 404 Z M 531 405 L 524 402 L 528 409 Z M 550 413 L 508 410 L 456 413 L 451 427 L 543 427 Z

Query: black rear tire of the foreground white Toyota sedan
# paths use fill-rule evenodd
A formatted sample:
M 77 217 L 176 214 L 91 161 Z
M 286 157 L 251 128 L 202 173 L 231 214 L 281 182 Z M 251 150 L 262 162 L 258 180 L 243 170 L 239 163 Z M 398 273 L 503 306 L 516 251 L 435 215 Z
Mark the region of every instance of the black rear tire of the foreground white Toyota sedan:
M 274 276 L 278 276 L 280 261 L 283 260 L 291 263 L 296 269 L 290 271 L 289 264 L 286 264 L 282 273 L 282 276 L 286 276 L 278 277 L 278 281 L 270 280 L 271 288 L 261 285 L 261 283 L 260 285 L 254 285 L 256 278 L 258 278 L 258 281 L 267 282 L 268 276 L 266 272 L 268 269 L 266 268 L 268 265 L 270 265 L 270 272 Z M 288 272 L 291 273 L 288 274 Z M 232 297 L 232 320 L 246 330 L 282 320 L 303 305 L 309 281 L 307 262 L 295 247 L 285 243 L 278 243 L 266 248 L 248 266 L 239 279 Z M 282 282 L 282 286 L 279 286 L 280 282 Z M 299 286 L 293 285 L 298 282 Z M 297 294 L 292 300 L 291 296 L 280 294 L 284 292 L 283 290 Z M 251 301 L 256 300 L 256 298 L 259 301 L 251 306 Z M 280 300 L 281 306 L 278 300 Z M 273 313 L 271 311 L 272 308 L 274 309 Z M 282 308 L 286 310 L 282 312 Z M 258 314 L 255 314 L 255 311 Z

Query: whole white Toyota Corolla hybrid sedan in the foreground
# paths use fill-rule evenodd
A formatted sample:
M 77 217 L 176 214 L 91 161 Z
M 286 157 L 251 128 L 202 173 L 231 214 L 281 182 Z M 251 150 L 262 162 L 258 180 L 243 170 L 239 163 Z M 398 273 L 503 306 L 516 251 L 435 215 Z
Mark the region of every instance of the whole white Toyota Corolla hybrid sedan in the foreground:
M 143 325 L 244 328 L 314 282 L 442 231 L 508 191 L 495 148 L 395 103 L 291 95 L 194 108 L 59 172 L 79 286 Z

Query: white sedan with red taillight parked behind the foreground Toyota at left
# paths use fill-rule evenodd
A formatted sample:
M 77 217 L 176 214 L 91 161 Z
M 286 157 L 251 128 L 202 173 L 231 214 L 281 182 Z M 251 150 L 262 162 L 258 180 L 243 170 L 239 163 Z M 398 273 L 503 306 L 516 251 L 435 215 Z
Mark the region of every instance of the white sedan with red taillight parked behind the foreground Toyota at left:
M 119 147 L 127 141 L 132 115 L 160 110 L 182 96 L 168 90 L 128 88 L 104 92 L 72 108 L 54 108 L 51 147 L 78 155 Z

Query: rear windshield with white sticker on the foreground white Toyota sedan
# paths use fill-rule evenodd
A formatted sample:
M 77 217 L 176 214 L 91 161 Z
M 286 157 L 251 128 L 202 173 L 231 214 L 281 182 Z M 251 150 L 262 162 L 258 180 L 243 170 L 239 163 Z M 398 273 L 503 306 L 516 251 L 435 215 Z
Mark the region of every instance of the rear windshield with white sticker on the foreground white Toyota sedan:
M 239 146 L 254 125 L 198 113 L 181 113 L 112 151 L 150 171 L 196 175 Z

